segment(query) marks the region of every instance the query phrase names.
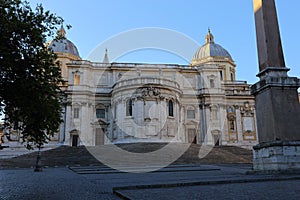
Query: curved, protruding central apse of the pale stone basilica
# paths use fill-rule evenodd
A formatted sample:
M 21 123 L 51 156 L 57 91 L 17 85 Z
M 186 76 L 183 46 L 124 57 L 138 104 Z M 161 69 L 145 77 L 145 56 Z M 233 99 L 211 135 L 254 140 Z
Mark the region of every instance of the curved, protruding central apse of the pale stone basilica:
M 118 82 L 112 93 L 113 142 L 183 142 L 177 128 L 181 94 L 176 82 L 162 78 Z

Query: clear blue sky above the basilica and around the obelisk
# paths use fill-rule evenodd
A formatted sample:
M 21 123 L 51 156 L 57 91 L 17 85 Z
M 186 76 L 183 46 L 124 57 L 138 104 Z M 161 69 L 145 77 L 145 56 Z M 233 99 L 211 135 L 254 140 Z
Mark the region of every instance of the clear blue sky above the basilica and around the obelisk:
M 237 79 L 250 84 L 258 80 L 252 0 L 31 0 L 30 3 L 33 6 L 42 3 L 45 9 L 72 25 L 67 37 L 76 44 L 83 59 L 97 45 L 124 31 L 166 28 L 202 45 L 209 27 L 215 42 L 228 50 L 235 60 Z M 300 56 L 300 1 L 276 0 L 276 6 L 286 66 L 291 68 L 289 75 L 300 77 L 297 62 Z M 194 51 L 196 49 L 191 52 Z M 192 56 L 193 53 L 190 60 Z M 131 52 L 115 61 L 188 64 L 171 53 L 149 49 Z

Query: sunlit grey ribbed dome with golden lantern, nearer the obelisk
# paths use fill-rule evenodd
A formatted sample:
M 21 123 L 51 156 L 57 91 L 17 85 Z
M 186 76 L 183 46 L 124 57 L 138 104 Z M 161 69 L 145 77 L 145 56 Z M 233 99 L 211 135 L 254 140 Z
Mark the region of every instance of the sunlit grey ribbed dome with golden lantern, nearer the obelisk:
M 201 63 L 209 57 L 223 58 L 232 61 L 231 55 L 221 45 L 214 42 L 214 36 L 208 30 L 206 44 L 201 46 L 192 58 L 192 64 Z

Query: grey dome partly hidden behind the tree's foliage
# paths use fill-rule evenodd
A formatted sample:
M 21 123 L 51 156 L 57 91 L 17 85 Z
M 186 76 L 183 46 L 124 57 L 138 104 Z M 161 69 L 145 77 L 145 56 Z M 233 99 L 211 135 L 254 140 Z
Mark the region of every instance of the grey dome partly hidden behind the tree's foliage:
M 80 58 L 77 47 L 66 38 L 66 31 L 63 27 L 58 30 L 57 35 L 59 39 L 51 40 L 48 47 L 55 53 L 68 53 Z

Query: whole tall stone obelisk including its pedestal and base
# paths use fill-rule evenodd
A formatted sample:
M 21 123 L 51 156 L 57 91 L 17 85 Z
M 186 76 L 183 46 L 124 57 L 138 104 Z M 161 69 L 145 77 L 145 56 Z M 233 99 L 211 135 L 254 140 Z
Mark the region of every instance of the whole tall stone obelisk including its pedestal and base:
M 254 170 L 300 169 L 299 79 L 285 66 L 274 0 L 253 0 L 259 61 L 255 96 L 259 144 Z

